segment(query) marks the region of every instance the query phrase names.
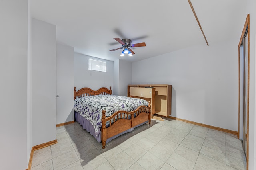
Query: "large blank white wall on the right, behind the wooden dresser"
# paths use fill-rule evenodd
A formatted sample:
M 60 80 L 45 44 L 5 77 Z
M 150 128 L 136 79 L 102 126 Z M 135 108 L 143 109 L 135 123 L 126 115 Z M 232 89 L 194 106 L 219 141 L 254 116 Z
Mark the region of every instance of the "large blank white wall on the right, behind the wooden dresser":
M 238 131 L 238 41 L 134 62 L 132 84 L 171 84 L 176 117 Z

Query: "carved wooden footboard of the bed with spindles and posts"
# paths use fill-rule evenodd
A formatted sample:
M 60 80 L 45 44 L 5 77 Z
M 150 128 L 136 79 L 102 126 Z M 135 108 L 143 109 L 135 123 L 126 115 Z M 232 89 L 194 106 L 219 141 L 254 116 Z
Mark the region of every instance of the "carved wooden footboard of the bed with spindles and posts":
M 128 129 L 136 127 L 145 121 L 151 123 L 151 108 L 150 102 L 147 106 L 140 106 L 136 110 L 127 111 L 117 111 L 110 117 L 106 118 L 106 111 L 102 110 L 102 128 L 101 128 L 101 141 L 102 148 L 105 148 L 106 140 L 117 134 L 120 134 Z M 129 119 L 130 117 L 130 119 Z M 109 121 L 109 127 L 106 127 L 106 122 Z

